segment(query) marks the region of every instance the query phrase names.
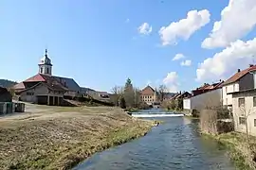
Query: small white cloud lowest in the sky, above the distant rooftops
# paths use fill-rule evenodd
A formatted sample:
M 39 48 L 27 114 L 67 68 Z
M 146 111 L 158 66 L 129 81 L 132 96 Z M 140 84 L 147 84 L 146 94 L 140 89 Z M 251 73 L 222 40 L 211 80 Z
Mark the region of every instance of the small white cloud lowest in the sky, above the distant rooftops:
M 178 91 L 178 75 L 176 72 L 170 72 L 163 79 L 163 83 L 167 86 L 169 92 Z

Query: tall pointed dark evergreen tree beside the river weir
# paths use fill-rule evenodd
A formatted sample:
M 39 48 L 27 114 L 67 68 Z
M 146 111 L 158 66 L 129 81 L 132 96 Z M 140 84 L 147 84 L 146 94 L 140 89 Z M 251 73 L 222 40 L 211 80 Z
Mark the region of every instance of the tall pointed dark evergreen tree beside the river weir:
M 132 80 L 130 78 L 127 78 L 126 80 L 123 90 L 123 96 L 125 99 L 126 106 L 132 108 L 135 104 L 135 92 Z

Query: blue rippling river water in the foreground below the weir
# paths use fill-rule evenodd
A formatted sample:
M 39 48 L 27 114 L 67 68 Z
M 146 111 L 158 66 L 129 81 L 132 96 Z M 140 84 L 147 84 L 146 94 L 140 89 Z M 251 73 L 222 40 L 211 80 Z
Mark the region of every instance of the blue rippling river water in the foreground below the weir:
M 75 170 L 233 170 L 225 149 L 198 133 L 198 121 L 161 117 L 145 136 L 80 163 Z

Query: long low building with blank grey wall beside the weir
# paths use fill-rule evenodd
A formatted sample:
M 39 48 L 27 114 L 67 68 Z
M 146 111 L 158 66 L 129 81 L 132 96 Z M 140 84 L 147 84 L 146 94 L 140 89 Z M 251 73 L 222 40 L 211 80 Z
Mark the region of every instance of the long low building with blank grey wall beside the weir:
M 192 96 L 183 99 L 184 110 L 203 110 L 206 107 L 218 107 L 222 105 L 222 84 L 217 83 L 204 84 L 204 86 L 192 91 Z M 195 93 L 194 93 L 195 92 Z

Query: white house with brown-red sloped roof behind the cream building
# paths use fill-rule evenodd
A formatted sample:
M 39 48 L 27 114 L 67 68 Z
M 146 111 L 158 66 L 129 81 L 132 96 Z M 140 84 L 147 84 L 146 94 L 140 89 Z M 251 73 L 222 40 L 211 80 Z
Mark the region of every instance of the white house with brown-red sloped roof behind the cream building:
M 223 83 L 222 95 L 223 106 L 232 110 L 232 94 L 234 92 L 245 91 L 254 88 L 254 76 L 252 72 L 256 71 L 256 65 L 250 64 L 245 70 L 237 70 L 237 73 L 229 77 L 227 81 Z

